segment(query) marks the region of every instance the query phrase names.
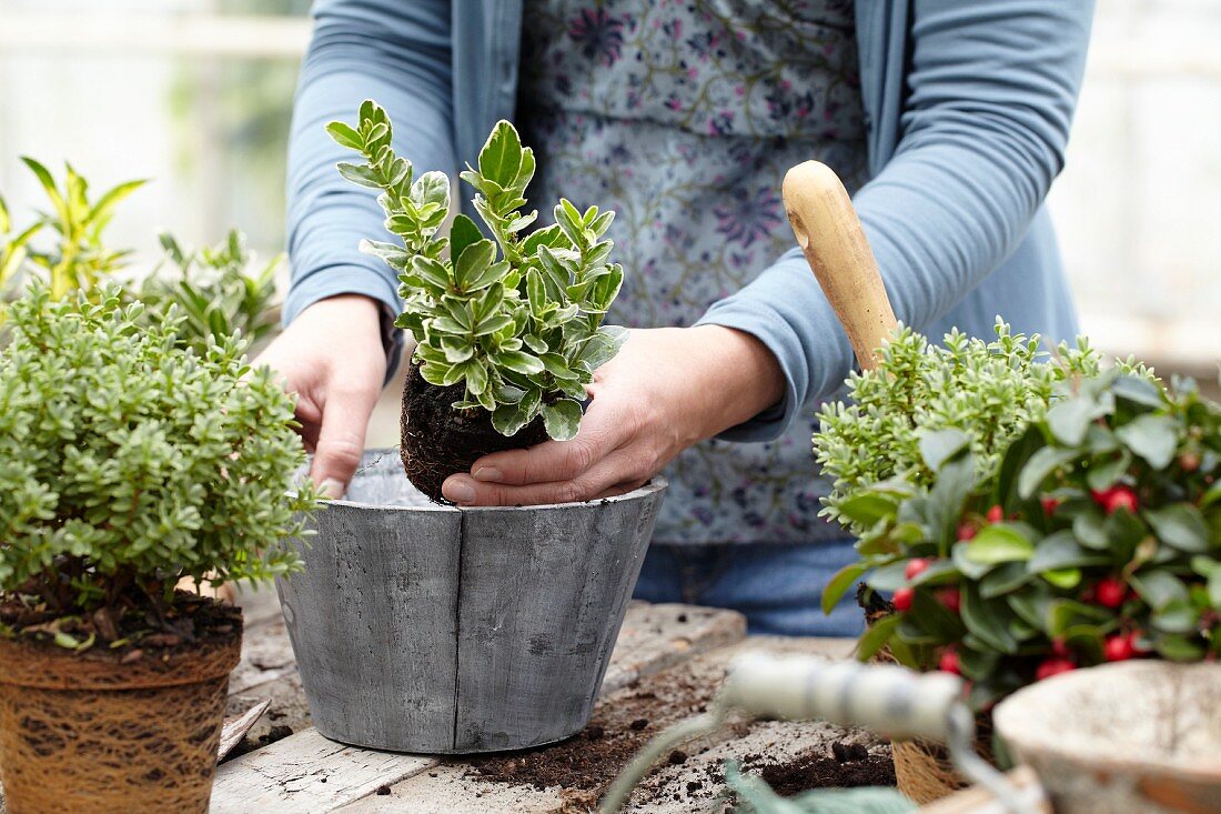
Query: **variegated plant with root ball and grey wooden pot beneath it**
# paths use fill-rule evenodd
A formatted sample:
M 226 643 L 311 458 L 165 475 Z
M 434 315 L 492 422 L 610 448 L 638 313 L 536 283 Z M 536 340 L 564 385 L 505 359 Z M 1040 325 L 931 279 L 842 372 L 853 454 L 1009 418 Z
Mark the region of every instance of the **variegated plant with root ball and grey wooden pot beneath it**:
M 523 237 L 534 154 L 501 122 L 463 177 L 493 240 L 448 208 L 444 176 L 413 180 L 371 101 L 330 126 L 381 189 L 400 243 L 365 249 L 400 270 L 409 364 L 400 456 L 369 451 L 327 504 L 280 599 L 317 730 L 399 752 L 519 749 L 589 721 L 665 484 L 584 504 L 455 508 L 441 483 L 484 452 L 567 439 L 591 372 L 621 331 L 602 328 L 621 270 L 610 213 L 562 200 Z M 449 258 L 444 259 L 448 247 Z

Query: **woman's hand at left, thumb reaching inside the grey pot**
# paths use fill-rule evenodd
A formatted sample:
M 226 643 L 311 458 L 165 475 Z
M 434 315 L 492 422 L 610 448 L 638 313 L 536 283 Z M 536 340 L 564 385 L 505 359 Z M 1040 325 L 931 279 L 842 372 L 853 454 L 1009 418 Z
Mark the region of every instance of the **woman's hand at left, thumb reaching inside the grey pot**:
M 381 306 L 341 295 L 308 307 L 254 359 L 295 394 L 310 478 L 324 495 L 342 497 L 360 466 L 365 430 L 386 379 Z

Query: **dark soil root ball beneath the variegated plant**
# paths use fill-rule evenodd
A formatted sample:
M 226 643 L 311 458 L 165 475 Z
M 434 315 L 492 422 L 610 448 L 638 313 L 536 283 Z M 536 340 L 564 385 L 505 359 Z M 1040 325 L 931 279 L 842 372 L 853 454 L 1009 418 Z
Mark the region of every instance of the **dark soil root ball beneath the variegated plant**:
M 403 387 L 403 468 L 411 484 L 437 502 L 444 502 L 441 484 L 491 452 L 524 450 L 547 440 L 542 418 L 505 438 L 492 427 L 486 409 L 455 411 L 453 403 L 466 395 L 465 384 L 438 387 L 420 374 L 415 359 L 408 364 Z

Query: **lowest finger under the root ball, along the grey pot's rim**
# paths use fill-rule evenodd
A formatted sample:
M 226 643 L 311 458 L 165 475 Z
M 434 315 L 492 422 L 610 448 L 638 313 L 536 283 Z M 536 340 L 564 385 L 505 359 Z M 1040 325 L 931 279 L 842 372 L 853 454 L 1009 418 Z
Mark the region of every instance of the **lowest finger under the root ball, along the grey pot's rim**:
M 643 483 L 648 479 L 648 474 L 640 472 L 639 468 L 634 455 L 615 451 L 571 480 L 510 485 L 476 480 L 468 474 L 455 474 L 446 479 L 441 494 L 459 506 L 575 504 L 601 497 L 625 483 Z

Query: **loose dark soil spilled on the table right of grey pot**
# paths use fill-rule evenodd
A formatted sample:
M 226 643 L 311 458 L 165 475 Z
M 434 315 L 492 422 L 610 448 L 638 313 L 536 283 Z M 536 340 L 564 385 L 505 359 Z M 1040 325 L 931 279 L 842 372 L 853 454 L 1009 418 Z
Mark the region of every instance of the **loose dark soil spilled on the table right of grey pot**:
M 686 666 L 652 676 L 600 704 L 590 725 L 574 738 L 548 748 L 469 759 L 469 776 L 529 785 L 540 791 L 558 786 L 569 796 L 575 794 L 581 804 L 591 804 L 657 733 L 707 711 L 719 683 L 692 676 Z M 685 765 L 691 754 L 674 749 L 658 760 L 658 768 Z M 746 754 L 740 761 L 744 771 L 759 774 L 777 793 L 785 796 L 817 787 L 895 785 L 889 749 L 871 750 L 861 743 L 835 742 L 830 754 L 819 749 L 786 761 L 766 754 Z M 650 785 L 647 779 L 642 783 L 646 793 Z M 664 793 L 679 802 L 708 801 L 723 787 L 723 768 L 709 764 L 687 780 L 685 787 L 672 791 L 667 786 Z

